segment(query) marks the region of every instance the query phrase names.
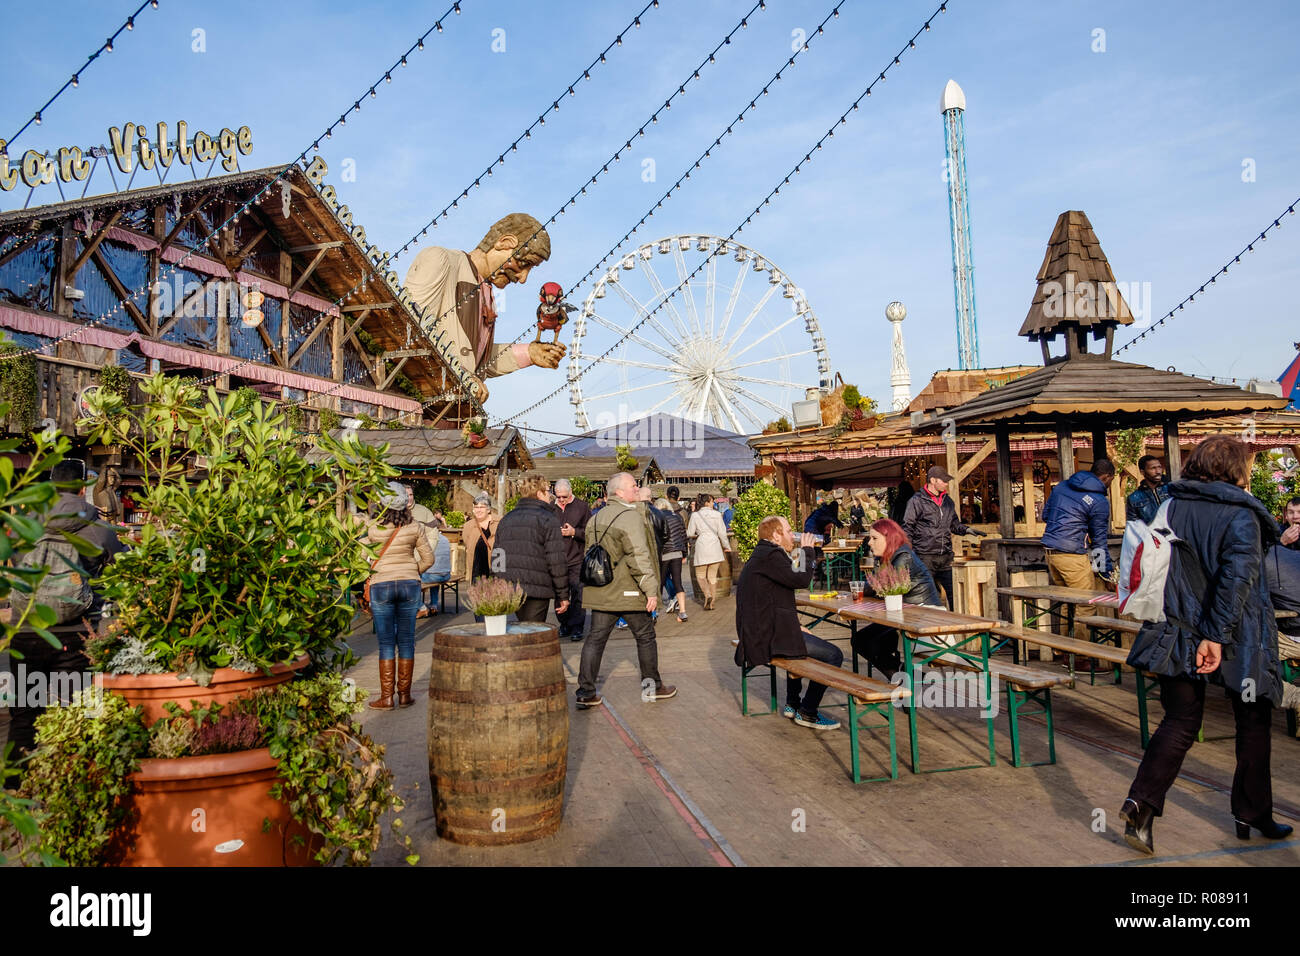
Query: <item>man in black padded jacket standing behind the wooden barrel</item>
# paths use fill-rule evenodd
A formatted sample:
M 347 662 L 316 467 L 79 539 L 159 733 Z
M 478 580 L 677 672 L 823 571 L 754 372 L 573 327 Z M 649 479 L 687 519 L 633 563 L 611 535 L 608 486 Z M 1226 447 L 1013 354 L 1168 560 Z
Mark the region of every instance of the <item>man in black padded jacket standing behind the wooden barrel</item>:
M 497 525 L 497 550 L 491 555 L 493 574 L 524 589 L 520 620 L 546 623 L 546 611 L 555 598 L 556 617 L 568 610 L 568 568 L 560 519 L 551 505 L 550 481 L 534 476 L 524 480 L 519 502 Z

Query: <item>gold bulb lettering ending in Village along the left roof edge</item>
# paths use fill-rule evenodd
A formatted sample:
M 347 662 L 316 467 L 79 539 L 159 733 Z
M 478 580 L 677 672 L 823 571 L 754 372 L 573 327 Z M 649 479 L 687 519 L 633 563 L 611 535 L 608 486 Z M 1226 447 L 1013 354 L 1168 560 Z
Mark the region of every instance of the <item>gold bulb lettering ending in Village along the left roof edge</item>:
M 96 147 L 92 152 L 105 159 L 112 156 L 117 168 L 127 176 L 136 161 L 144 169 L 155 166 L 166 169 L 177 157 L 188 165 L 195 160 L 208 163 L 217 156 L 221 156 L 221 168 L 233 173 L 239 168 L 239 155 L 247 156 L 252 152 L 252 130 L 247 126 L 240 126 L 238 130 L 222 129 L 217 135 L 199 130 L 191 143 L 187 124 L 181 120 L 176 125 L 174 147 L 168 142 L 165 122 L 157 125 L 156 133 L 151 140 L 148 130 L 140 124 L 113 126 L 108 131 L 108 150 Z M 14 189 L 20 179 L 32 189 L 53 182 L 56 177 L 62 182 L 84 182 L 90 170 L 91 161 L 79 146 L 60 147 L 56 156 L 27 150 L 21 160 L 16 160 L 9 157 L 5 140 L 0 139 L 0 190 L 6 193 Z

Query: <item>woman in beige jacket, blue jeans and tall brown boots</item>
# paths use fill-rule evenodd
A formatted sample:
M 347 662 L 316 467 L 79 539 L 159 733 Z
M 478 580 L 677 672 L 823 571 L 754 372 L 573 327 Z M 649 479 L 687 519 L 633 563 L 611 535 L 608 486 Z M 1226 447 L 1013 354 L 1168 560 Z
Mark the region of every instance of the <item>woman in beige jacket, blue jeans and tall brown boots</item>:
M 370 615 L 380 641 L 380 696 L 370 701 L 376 710 L 393 709 L 394 678 L 398 706 L 415 702 L 415 617 L 420 610 L 420 574 L 433 564 L 433 551 L 420 523 L 411 518 L 410 503 L 406 489 L 390 481 L 389 493 L 380 497 L 384 510 L 365 536 L 382 551 L 370 564 Z

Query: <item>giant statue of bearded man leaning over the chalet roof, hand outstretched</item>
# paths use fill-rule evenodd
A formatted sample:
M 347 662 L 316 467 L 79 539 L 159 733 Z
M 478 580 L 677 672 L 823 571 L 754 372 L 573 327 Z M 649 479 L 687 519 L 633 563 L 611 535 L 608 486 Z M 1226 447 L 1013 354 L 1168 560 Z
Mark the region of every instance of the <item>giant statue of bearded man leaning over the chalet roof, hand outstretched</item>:
M 493 290 L 524 284 L 528 273 L 551 256 L 551 238 L 542 224 L 512 212 L 493 224 L 469 252 L 430 246 L 421 250 L 406 274 L 406 289 L 421 312 L 429 337 L 445 333 L 462 365 L 490 378 L 528 365 L 558 368 L 564 358 L 559 342 L 497 345 Z M 489 278 L 490 277 L 490 278 Z

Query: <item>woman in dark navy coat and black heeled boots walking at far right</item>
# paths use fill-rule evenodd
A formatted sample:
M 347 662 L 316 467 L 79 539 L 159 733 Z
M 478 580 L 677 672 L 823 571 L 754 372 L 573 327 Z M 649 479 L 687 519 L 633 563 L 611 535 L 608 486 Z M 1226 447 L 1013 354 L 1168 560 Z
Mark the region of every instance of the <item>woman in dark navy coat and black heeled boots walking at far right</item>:
M 1208 680 L 1222 684 L 1236 718 L 1232 816 L 1236 835 L 1254 827 L 1283 839 L 1291 827 L 1273 819 L 1269 732 L 1282 700 L 1278 635 L 1264 553 L 1278 528 L 1249 492 L 1254 455 L 1225 436 L 1202 441 L 1188 457 L 1183 480 L 1169 485 L 1169 523 L 1182 538 L 1165 581 L 1165 617 L 1143 624 L 1128 663 L 1160 678 L 1165 719 L 1152 735 L 1121 809 L 1124 839 L 1153 853 L 1152 821 L 1164 813 L 1201 726 Z

